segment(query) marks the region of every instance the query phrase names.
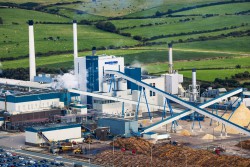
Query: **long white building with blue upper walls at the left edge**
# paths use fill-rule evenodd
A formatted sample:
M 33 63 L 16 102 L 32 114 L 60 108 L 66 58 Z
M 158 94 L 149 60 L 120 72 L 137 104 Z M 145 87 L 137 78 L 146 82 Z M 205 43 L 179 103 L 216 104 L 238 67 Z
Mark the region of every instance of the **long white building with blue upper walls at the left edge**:
M 52 90 L 3 91 L 0 96 L 0 110 L 6 109 L 9 114 L 15 115 L 63 108 L 77 96 L 77 94 Z

